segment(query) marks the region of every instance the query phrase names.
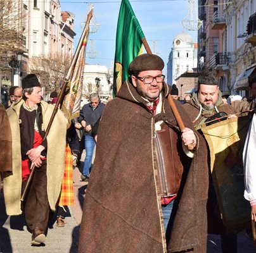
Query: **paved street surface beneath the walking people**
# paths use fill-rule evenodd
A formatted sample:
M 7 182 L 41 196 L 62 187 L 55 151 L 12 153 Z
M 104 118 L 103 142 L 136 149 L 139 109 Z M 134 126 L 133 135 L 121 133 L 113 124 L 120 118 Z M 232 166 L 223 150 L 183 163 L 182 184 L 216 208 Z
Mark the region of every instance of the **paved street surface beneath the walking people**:
M 41 253 L 61 252 L 76 253 L 78 249 L 79 224 L 82 218 L 82 203 L 87 183 L 80 181 L 78 168 L 74 170 L 74 206 L 70 207 L 70 214 L 66 218 L 67 225 L 57 228 L 50 224 L 46 243 L 43 247 L 30 245 L 31 234 L 27 231 L 22 216 L 8 217 L 5 213 L 3 192 L 0 195 L 0 253 Z M 53 219 L 54 220 L 54 219 Z M 122 250 L 120 250 L 122 252 Z M 221 252 L 221 240 L 217 235 L 208 236 L 207 253 Z M 245 233 L 238 235 L 238 253 L 254 253 L 256 248 L 252 240 Z M 90 252 L 89 252 L 90 253 Z M 106 253 L 108 253 L 106 251 Z M 110 252 L 111 253 L 111 252 Z M 146 252 L 145 252 L 146 253 Z M 231 252 L 232 253 L 232 252 Z

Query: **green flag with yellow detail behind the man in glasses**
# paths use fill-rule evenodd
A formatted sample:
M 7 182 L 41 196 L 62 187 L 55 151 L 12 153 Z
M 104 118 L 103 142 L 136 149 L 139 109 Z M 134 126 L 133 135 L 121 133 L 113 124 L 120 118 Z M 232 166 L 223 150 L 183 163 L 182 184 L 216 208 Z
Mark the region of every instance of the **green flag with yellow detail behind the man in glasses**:
M 129 77 L 127 69 L 131 61 L 142 52 L 144 38 L 141 26 L 128 0 L 122 0 L 117 23 L 115 42 L 115 66 L 113 95 Z

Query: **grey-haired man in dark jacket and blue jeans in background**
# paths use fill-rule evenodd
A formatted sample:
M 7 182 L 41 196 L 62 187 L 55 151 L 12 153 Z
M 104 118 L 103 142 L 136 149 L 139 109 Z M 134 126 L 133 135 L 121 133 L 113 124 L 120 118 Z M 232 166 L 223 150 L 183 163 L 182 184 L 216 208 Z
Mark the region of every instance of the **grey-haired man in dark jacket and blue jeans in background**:
M 84 145 L 86 149 L 86 158 L 84 159 L 84 168 L 82 171 L 81 179 L 89 181 L 91 172 L 91 165 L 93 160 L 93 151 L 96 145 L 94 137 L 91 134 L 93 125 L 99 120 L 103 110 L 104 104 L 101 104 L 99 95 L 93 93 L 89 97 L 89 104 L 85 104 L 80 111 L 80 124 L 86 130 L 86 136 L 84 138 Z

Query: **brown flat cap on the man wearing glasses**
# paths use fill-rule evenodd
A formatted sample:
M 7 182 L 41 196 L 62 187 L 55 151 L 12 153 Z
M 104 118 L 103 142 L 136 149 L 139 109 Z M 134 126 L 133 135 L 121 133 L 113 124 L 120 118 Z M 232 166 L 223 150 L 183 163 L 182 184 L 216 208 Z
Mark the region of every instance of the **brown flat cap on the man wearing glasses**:
M 146 70 L 163 70 L 165 64 L 156 54 L 141 54 L 137 56 L 128 67 L 129 75 L 136 75 Z

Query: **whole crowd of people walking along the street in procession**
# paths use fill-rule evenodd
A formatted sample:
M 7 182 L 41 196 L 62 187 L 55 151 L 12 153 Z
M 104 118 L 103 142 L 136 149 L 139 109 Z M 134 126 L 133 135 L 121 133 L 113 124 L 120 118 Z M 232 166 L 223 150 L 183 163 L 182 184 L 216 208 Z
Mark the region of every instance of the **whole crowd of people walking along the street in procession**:
M 72 170 L 81 165 L 85 149 L 80 172 L 88 186 L 79 253 L 131 252 L 131 247 L 132 252 L 207 252 L 208 233 L 221 236 L 222 252 L 237 252 L 237 233 L 250 219 L 256 221 L 256 80 L 250 81 L 252 97 L 229 103 L 215 71 L 205 67 L 197 91 L 181 104 L 176 85 L 165 83 L 163 68 L 159 56 L 141 54 L 130 63 L 130 77 L 115 99 L 105 106 L 91 94 L 71 126 L 57 109 L 48 127 L 58 94 L 44 102 L 36 75 L 23 78 L 22 88 L 12 87 L 8 109 L 0 105 L 5 129 L 0 171 L 6 213 L 25 214 L 32 245 L 45 242 L 51 212 L 57 213 L 56 226 L 65 226 L 74 202 Z M 226 189 L 216 187 L 202 128 L 240 116 L 248 118 L 241 161 L 251 217 L 227 224 L 219 197 Z

